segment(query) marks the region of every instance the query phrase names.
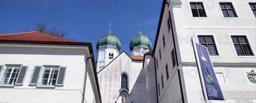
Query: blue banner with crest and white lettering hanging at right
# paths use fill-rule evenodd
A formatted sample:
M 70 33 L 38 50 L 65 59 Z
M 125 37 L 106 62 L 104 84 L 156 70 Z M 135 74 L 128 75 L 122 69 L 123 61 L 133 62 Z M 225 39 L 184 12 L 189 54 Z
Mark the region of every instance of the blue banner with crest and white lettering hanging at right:
M 207 47 L 195 43 L 198 59 L 200 62 L 202 75 L 204 78 L 204 85 L 209 100 L 224 100 L 221 88 L 213 70 L 212 62 L 210 60 Z

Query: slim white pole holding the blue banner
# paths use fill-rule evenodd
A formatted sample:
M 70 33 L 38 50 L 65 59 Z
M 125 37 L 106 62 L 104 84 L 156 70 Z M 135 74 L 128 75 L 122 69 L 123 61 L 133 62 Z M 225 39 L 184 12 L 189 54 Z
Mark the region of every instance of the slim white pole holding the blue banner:
M 204 100 L 205 100 L 205 103 L 208 103 L 208 97 L 207 97 L 207 92 L 206 92 L 205 85 L 204 85 L 204 78 L 203 78 L 203 75 L 202 75 L 202 69 L 201 69 L 201 66 L 200 66 L 200 62 L 198 60 L 198 51 L 197 51 L 196 46 L 195 46 L 195 38 L 192 37 L 191 40 L 192 40 L 192 44 L 193 44 L 196 64 L 197 64 L 197 67 L 198 67 L 198 73 L 199 73 L 199 77 L 200 77 L 200 81 L 201 81 L 202 91 L 203 91 L 203 94 L 204 94 Z

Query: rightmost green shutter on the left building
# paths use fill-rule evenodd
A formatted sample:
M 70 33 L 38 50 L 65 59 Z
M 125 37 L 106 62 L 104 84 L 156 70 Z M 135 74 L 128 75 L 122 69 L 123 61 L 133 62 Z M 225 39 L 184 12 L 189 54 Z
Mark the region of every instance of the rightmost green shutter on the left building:
M 66 66 L 60 66 L 58 70 L 58 77 L 56 81 L 56 86 L 64 86 L 64 80 L 66 76 L 67 67 Z

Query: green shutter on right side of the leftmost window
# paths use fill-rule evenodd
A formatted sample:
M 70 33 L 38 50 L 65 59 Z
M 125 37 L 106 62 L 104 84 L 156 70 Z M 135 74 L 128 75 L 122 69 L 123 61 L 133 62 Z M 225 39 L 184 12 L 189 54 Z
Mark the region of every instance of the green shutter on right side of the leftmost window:
M 21 66 L 15 85 L 23 85 L 29 66 Z

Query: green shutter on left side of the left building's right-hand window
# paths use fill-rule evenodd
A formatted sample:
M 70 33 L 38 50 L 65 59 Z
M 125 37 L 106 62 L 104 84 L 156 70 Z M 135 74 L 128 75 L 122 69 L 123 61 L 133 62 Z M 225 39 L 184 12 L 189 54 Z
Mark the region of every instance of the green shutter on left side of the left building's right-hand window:
M 40 76 L 40 72 L 41 72 L 42 67 L 43 66 L 35 66 L 35 68 L 33 70 L 33 73 L 32 73 L 32 76 L 31 76 L 31 79 L 30 79 L 30 82 L 29 82 L 29 85 L 37 85 L 38 78 Z

